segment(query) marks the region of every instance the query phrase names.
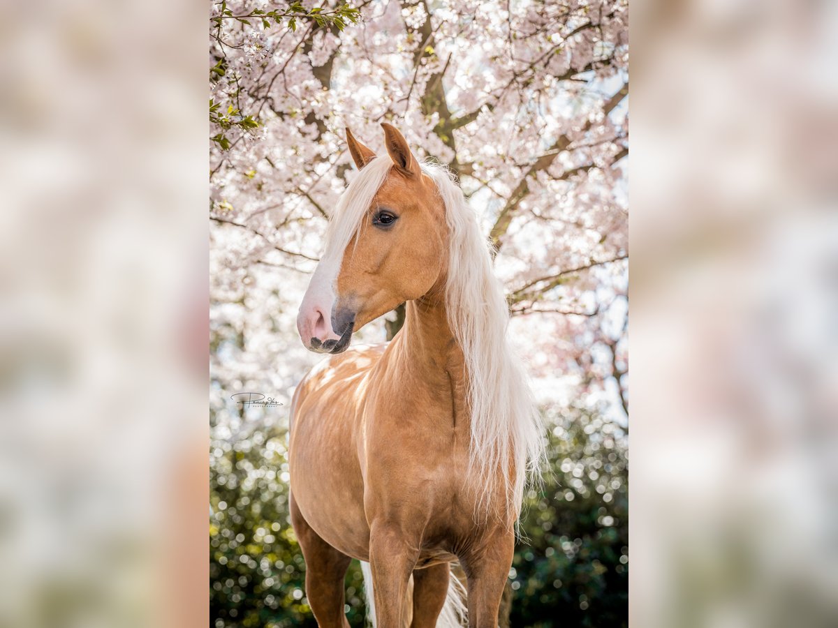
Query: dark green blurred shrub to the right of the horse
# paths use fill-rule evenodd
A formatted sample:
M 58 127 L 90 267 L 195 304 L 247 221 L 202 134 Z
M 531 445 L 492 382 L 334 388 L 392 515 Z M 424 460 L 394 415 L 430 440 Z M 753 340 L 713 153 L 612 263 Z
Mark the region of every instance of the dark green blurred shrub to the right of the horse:
M 627 436 L 618 423 L 578 409 L 552 425 L 551 473 L 525 501 L 510 625 L 626 626 Z

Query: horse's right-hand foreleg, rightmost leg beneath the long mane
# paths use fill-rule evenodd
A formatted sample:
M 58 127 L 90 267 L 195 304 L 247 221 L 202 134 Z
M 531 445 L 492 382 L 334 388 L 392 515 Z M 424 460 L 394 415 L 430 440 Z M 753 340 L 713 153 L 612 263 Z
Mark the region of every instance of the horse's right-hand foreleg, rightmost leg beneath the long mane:
M 500 598 L 514 551 L 515 535 L 499 533 L 480 551 L 461 557 L 468 579 L 469 628 L 497 628 Z

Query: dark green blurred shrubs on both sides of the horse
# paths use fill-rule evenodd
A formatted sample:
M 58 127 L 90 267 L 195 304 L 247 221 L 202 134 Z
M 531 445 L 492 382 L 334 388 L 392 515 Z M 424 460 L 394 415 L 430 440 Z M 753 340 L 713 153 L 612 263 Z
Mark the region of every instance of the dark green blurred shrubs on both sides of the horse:
M 276 416 L 240 414 L 232 434 L 229 420 L 218 423 L 230 412 L 212 418 L 211 621 L 215 628 L 315 626 L 288 517 L 286 428 Z M 551 473 L 526 499 L 525 540 L 510 571 L 510 625 L 628 625 L 627 436 L 617 421 L 588 410 L 567 409 L 561 418 L 548 411 L 546 420 Z M 349 623 L 363 626 L 356 561 L 346 587 Z

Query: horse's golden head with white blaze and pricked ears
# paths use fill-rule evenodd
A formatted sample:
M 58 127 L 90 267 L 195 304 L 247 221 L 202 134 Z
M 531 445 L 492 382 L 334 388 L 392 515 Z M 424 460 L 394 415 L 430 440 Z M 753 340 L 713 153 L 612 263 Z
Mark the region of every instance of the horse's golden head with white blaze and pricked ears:
M 297 315 L 311 351 L 341 353 L 368 322 L 444 291 L 445 204 L 401 132 L 381 126 L 386 157 L 376 157 L 346 129 L 360 172 L 329 222 L 325 251 Z

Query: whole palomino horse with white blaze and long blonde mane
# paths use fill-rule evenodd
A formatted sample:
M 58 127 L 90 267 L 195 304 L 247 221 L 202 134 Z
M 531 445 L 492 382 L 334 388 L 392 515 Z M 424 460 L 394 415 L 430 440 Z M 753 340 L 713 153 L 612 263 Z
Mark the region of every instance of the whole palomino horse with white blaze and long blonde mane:
M 540 423 L 463 192 L 381 126 L 382 157 L 346 131 L 360 172 L 297 317 L 303 343 L 333 354 L 292 403 L 291 517 L 308 602 L 319 625 L 348 626 L 354 558 L 369 563 L 378 628 L 462 625 L 449 577 L 459 560 L 468 625 L 495 628 Z M 389 345 L 346 351 L 352 332 L 405 301 Z

